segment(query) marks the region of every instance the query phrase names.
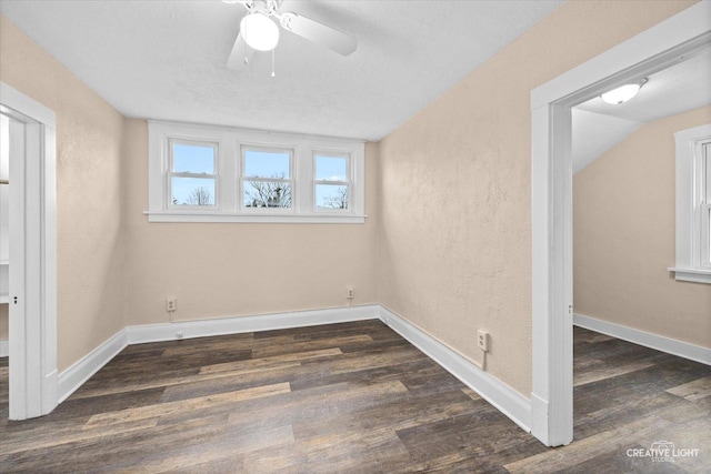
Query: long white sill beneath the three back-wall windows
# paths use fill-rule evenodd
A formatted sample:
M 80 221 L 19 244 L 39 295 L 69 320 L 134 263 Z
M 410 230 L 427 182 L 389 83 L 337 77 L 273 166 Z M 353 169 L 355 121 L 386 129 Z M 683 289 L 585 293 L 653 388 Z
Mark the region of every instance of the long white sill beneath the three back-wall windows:
M 367 215 L 353 214 L 226 214 L 218 212 L 144 211 L 148 222 L 246 222 L 276 224 L 362 224 Z

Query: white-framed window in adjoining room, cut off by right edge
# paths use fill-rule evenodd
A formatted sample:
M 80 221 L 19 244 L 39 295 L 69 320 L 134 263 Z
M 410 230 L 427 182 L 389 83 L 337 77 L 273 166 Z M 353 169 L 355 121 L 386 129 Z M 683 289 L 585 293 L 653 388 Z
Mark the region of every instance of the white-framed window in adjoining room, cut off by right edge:
M 711 124 L 674 133 L 677 142 L 677 262 L 669 269 L 679 281 L 711 283 L 707 186 Z

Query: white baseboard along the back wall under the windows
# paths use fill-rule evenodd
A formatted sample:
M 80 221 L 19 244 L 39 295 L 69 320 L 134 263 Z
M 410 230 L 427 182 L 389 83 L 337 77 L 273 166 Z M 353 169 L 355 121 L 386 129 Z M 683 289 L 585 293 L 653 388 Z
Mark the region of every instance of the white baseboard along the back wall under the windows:
M 212 335 L 239 334 L 256 331 L 273 331 L 290 327 L 306 327 L 321 324 L 347 323 L 351 321 L 375 320 L 380 306 L 350 306 L 329 310 L 296 311 L 291 313 L 263 314 L 256 316 L 221 317 L 217 320 L 181 321 L 162 324 L 128 326 L 129 344 L 174 341 L 179 339 L 206 337 Z

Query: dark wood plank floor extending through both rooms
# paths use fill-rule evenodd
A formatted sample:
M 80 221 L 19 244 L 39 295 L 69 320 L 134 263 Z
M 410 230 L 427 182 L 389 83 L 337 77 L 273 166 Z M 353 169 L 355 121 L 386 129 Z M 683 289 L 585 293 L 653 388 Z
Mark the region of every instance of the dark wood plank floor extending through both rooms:
M 24 422 L 0 359 L 0 472 L 710 472 L 711 367 L 581 329 L 574 364 L 547 448 L 379 321 L 132 345 Z

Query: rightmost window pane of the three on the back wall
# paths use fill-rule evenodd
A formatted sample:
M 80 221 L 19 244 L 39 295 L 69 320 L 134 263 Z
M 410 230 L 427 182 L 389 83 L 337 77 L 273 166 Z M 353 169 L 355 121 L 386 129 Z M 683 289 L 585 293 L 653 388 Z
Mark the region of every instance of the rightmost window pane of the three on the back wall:
M 333 153 L 314 153 L 316 209 L 342 211 L 350 209 L 350 157 Z

